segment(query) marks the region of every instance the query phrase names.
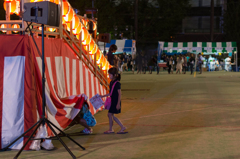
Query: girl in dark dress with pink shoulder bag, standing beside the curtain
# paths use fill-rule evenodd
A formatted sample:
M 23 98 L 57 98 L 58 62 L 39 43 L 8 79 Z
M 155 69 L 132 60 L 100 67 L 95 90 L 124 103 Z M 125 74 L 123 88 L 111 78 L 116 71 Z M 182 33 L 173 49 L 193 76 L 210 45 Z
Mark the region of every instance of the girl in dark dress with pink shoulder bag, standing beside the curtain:
M 111 96 L 111 107 L 108 111 L 108 119 L 109 119 L 109 130 L 105 131 L 104 134 L 111 134 L 114 133 L 113 130 L 113 120 L 121 127 L 121 130 L 118 132 L 118 134 L 125 134 L 127 132 L 125 132 L 125 130 L 127 129 L 126 127 L 123 126 L 122 122 L 114 115 L 114 114 L 119 114 L 121 113 L 121 84 L 120 84 L 120 79 L 121 79 L 121 75 L 118 74 L 118 70 L 117 68 L 113 67 L 110 68 L 108 70 L 109 73 L 109 78 L 111 79 L 110 82 L 110 91 L 113 88 L 114 83 L 116 82 L 114 88 L 113 88 L 113 92 L 112 92 L 112 96 Z M 109 94 L 103 95 L 101 96 L 103 97 L 107 97 L 109 96 Z

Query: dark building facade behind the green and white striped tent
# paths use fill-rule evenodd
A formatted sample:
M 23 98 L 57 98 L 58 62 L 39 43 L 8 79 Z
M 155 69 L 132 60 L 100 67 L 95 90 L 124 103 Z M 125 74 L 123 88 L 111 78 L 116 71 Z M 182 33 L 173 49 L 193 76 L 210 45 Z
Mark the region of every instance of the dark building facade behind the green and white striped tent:
M 173 41 L 210 41 L 211 0 L 190 0 L 191 9 Z M 214 0 L 214 41 L 224 41 L 223 14 L 227 0 Z

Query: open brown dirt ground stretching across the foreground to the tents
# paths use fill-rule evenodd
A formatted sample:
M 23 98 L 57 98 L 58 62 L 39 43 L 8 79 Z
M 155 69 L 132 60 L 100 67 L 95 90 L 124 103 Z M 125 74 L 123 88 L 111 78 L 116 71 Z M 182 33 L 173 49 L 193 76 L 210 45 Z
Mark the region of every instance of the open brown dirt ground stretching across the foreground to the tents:
M 122 75 L 122 113 L 128 134 L 103 134 L 107 111 L 95 115 L 92 135 L 75 125 L 65 143 L 82 159 L 240 159 L 240 73 L 203 72 L 196 77 L 160 72 Z M 115 132 L 119 126 L 114 125 Z M 59 141 L 56 150 L 24 151 L 19 158 L 71 158 Z M 13 158 L 17 151 L 0 152 Z

